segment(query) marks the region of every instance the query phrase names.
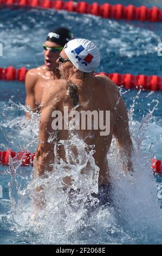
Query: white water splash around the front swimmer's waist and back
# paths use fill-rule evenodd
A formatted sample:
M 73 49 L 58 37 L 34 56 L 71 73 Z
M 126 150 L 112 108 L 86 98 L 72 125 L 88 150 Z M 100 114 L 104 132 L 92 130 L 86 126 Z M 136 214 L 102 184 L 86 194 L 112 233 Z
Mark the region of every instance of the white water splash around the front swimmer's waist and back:
M 114 139 L 108 154 L 113 184 L 110 205 L 99 205 L 99 200 L 92 196 L 92 192 L 98 192 L 98 167 L 93 159 L 95 148 L 93 145 L 86 145 L 76 136 L 72 136 L 69 141 L 59 142 L 66 151 L 66 162 L 54 163 L 55 172 L 48 174 L 46 179 L 33 179 L 33 176 L 26 179 L 24 188 L 18 184 L 16 165 L 11 162 L 12 215 L 5 217 L 5 223 L 16 234 L 17 243 L 161 242 L 159 237 L 162 216 L 157 198 L 157 184 L 150 167 L 151 153 L 143 150 L 143 138 L 147 137 L 148 127 L 152 125 L 150 120 L 158 102 L 152 101 L 154 105 L 150 105 L 151 110 L 138 123 L 133 120 L 133 113 L 139 97 L 140 92 L 129 111 L 134 142 L 133 176 L 121 171 L 122 159 Z M 31 123 L 25 125 L 25 129 L 32 130 L 30 125 Z M 73 147 L 77 149 L 77 159 L 73 150 L 70 150 Z M 81 169 L 88 161 L 91 168 L 88 175 L 84 176 Z M 71 187 L 63 189 L 62 180 L 67 175 L 73 176 L 73 183 Z M 35 188 L 41 185 L 43 194 L 36 194 Z M 40 196 L 46 199 L 46 207 L 38 213 L 36 219 L 34 195 L 37 199 Z M 90 204 L 87 204 L 87 199 Z M 94 205 L 98 206 L 94 209 Z

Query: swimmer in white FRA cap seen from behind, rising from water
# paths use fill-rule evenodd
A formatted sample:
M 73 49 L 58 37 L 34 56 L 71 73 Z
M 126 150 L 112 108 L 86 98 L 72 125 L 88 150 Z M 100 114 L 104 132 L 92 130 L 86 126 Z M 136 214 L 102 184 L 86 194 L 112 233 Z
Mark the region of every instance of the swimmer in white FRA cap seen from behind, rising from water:
M 87 39 L 73 39 L 69 41 L 57 59 L 61 79 L 49 81 L 44 87 L 42 96 L 42 116 L 40 120 L 39 143 L 35 158 L 35 176 L 41 176 L 46 170 L 52 171 L 50 164 L 55 161 L 54 146 L 60 140 L 69 138 L 69 130 L 57 130 L 55 142 L 48 140 L 50 134 L 56 135 L 52 125 L 55 110 L 60 111 L 64 116 L 64 107 L 68 111 L 102 111 L 110 113 L 109 123 L 106 115 L 103 115 L 103 123 L 110 126 L 109 133 L 101 134 L 98 129 L 73 130 L 74 135 L 83 139 L 88 145 L 95 145 L 95 164 L 100 168 L 99 188 L 109 188 L 109 172 L 107 154 L 111 147 L 113 136 L 116 138 L 122 154 L 126 156 L 125 170 L 131 172 L 132 140 L 129 135 L 128 117 L 125 102 L 119 94 L 116 85 L 105 75 L 96 75 L 94 70 L 100 64 L 100 53 L 96 45 Z M 107 129 L 105 127 L 105 131 Z M 57 156 L 66 162 L 64 149 L 59 148 Z M 76 156 L 77 157 L 77 156 Z M 58 161 L 58 159 L 57 159 Z M 76 164 L 75 162 L 72 164 Z M 90 162 L 81 170 L 81 174 L 87 172 Z M 70 186 L 73 180 L 67 177 L 63 180 Z M 38 187 L 37 191 L 42 188 Z M 102 191 L 102 190 L 101 190 Z M 106 192 L 107 193 L 107 192 Z M 102 194 L 101 194 L 102 196 Z M 107 196 L 107 195 L 106 195 Z

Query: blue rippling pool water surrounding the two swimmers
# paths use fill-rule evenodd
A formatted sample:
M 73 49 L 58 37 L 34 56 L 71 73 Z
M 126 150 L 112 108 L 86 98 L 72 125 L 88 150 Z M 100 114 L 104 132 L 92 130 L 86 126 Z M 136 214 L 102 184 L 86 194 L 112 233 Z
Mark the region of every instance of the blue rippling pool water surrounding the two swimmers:
M 160 2 L 129 1 L 129 4 L 160 7 Z M 128 4 L 127 1 L 117 0 L 109 3 Z M 3 45 L 0 66 L 3 68 L 12 65 L 17 69 L 21 66 L 30 69 L 42 65 L 42 44 L 47 33 L 57 26 L 67 26 L 76 37 L 93 40 L 98 45 L 101 65 L 96 71 L 162 77 L 162 57 L 157 55 L 157 45 L 161 42 L 162 36 L 162 23 L 105 20 L 101 17 L 66 11 L 16 8 L 0 9 L 0 19 L 0 43 Z M 11 148 L 19 151 L 28 148 L 35 151 L 37 132 L 30 135 L 32 127 L 29 129 L 24 111 L 18 107 L 25 101 L 24 83 L 0 81 L 0 92 L 0 149 Z M 124 94 L 127 109 L 133 109 L 132 102 L 137 93 L 137 90 L 131 90 Z M 42 234 L 39 234 L 38 224 L 29 218 L 28 196 L 26 198 L 20 193 L 17 197 L 16 194 L 17 190 L 23 191 L 23 188 L 30 184 L 32 167 L 18 167 L 16 180 L 13 175 L 11 180 L 9 167 L 1 165 L 0 185 L 3 186 L 3 198 L 0 199 L 0 243 L 161 243 L 162 212 L 157 192 L 161 189 L 162 179 L 154 177 L 150 169 L 151 158 L 154 155 L 162 160 L 161 96 L 161 92 L 151 95 L 148 92 L 141 92 L 139 99 L 135 100 L 131 132 L 136 146 L 140 144 L 141 138 L 144 138 L 144 141 L 139 148 L 136 147 L 134 184 L 125 181 L 120 173 L 115 174 L 112 171 L 113 177 L 118 176 L 118 179 L 114 179 L 116 207 L 99 209 L 86 221 L 75 213 L 74 219 L 77 217 L 78 222 L 70 221 L 69 227 L 62 224 L 58 228 L 61 219 L 56 222 L 53 216 L 53 222 L 50 222 L 46 217 L 46 222 L 40 222 Z M 153 109 L 157 102 L 158 107 L 147 125 L 147 118 L 145 120 L 144 117 L 147 117 L 149 109 Z M 139 129 L 141 123 L 144 129 Z M 32 140 L 33 143 L 30 143 Z M 114 156 L 111 157 L 114 160 Z M 115 170 L 114 162 L 111 164 Z M 12 185 L 10 197 L 9 182 Z M 14 188 L 16 184 L 18 189 Z M 13 201 L 11 198 L 17 198 L 16 210 L 15 206 L 10 204 Z M 72 212 L 69 211 L 68 214 Z M 67 217 L 65 218 L 67 221 Z

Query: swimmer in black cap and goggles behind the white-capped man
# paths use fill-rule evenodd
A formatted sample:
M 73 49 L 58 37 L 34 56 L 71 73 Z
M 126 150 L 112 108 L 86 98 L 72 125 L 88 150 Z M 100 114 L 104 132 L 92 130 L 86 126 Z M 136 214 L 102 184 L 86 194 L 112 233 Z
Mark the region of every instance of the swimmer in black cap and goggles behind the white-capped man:
M 63 46 L 74 36 L 67 28 L 56 28 L 49 32 L 47 39 L 43 44 L 44 49 L 44 65 L 35 69 L 30 69 L 25 77 L 25 87 L 27 97 L 26 106 L 30 106 L 33 111 L 40 111 L 38 107 L 41 104 L 44 83 L 50 79 L 59 79 L 58 64 L 56 59 L 63 49 Z M 27 117 L 30 118 L 30 113 L 27 112 Z

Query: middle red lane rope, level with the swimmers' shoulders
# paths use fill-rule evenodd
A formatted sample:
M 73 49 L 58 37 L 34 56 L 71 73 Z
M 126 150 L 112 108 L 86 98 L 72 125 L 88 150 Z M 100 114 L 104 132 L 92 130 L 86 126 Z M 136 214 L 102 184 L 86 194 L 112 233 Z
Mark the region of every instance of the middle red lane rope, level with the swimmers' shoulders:
M 1 1 L 1 0 L 0 0 Z M 0 68 L 0 80 L 5 81 L 20 81 L 25 80 L 25 75 L 28 69 L 22 67 L 21 69 L 15 69 L 13 66 L 8 68 Z M 96 73 L 106 75 L 117 85 L 124 86 L 126 89 L 146 89 L 152 91 L 162 91 L 162 77 L 160 76 L 146 76 L 146 75 L 132 75 L 132 74 L 119 74 L 105 72 Z

